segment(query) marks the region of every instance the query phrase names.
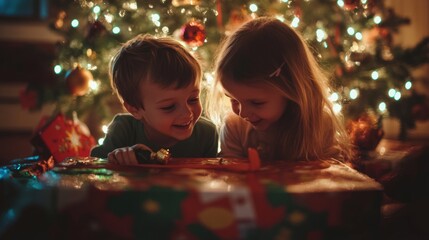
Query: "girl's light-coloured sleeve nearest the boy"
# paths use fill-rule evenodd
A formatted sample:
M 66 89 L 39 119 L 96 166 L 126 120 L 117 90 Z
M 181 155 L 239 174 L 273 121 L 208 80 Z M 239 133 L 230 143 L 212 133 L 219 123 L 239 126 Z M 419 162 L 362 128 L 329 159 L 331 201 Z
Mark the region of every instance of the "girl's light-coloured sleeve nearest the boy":
M 220 129 L 220 157 L 247 158 L 247 148 L 243 139 L 244 128 L 239 116 L 230 114 L 225 118 Z

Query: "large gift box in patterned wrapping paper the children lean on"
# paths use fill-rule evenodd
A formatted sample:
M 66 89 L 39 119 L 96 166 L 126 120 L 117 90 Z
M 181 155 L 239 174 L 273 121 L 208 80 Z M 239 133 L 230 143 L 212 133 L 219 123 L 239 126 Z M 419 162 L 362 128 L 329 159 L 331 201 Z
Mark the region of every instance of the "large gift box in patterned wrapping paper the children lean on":
M 47 212 L 48 238 L 377 237 L 381 187 L 342 163 L 272 163 L 237 172 L 199 168 L 207 160 L 213 159 L 176 159 L 187 168 L 103 161 L 55 167 L 39 177 L 37 189 L 19 188 L 33 200 L 14 208 L 22 213 L 33 202 Z M 20 218 L 6 236 L 19 228 Z

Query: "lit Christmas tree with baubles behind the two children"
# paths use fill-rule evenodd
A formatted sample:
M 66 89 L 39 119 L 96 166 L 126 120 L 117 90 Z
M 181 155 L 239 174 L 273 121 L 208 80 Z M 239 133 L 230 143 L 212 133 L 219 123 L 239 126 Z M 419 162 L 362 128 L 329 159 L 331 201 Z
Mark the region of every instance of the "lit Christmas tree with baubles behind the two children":
M 413 48 L 394 46 L 393 34 L 409 20 L 382 0 L 76 0 L 52 1 L 50 27 L 63 36 L 52 71 L 56 78 L 29 85 L 23 106 L 38 109 L 54 102 L 67 115 L 92 113 L 103 135 L 118 102 L 108 77 L 115 50 L 137 34 L 169 35 L 201 60 L 204 86 L 222 38 L 248 19 L 275 16 L 302 33 L 321 65 L 332 73 L 335 109 L 353 119 L 372 112 L 394 116 L 405 130 L 429 118 L 424 99 L 413 91 L 411 70 L 429 62 L 429 38 Z M 426 115 L 425 115 L 426 113 Z

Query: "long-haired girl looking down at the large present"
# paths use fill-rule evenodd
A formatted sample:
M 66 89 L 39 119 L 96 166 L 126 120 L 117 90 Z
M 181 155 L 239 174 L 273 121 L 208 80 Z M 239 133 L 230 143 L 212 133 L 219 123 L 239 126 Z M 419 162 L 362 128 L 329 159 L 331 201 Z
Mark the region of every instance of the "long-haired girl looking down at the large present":
M 235 113 L 224 118 L 220 156 L 246 158 L 251 147 L 269 160 L 352 157 L 327 79 L 288 25 L 270 17 L 245 23 L 222 45 L 215 70 L 211 102 L 226 96 Z M 222 119 L 214 104 L 207 107 L 213 121 Z

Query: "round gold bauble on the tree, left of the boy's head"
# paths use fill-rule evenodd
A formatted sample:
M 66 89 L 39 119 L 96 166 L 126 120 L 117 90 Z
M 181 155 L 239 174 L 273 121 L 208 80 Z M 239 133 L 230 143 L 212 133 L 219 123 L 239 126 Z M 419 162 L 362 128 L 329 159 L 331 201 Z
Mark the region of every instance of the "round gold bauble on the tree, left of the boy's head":
M 91 72 L 80 66 L 67 72 L 66 84 L 70 94 L 73 96 L 85 95 L 88 92 L 89 82 L 92 79 Z

